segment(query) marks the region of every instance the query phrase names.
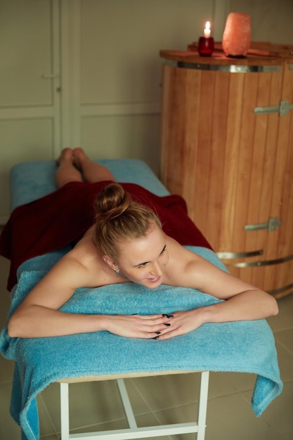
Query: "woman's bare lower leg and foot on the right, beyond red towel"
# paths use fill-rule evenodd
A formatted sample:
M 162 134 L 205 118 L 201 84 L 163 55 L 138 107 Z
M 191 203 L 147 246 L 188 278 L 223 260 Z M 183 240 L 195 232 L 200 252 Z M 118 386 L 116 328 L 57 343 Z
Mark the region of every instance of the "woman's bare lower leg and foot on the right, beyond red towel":
M 89 159 L 82 148 L 74 148 L 73 163 L 82 172 L 86 182 L 115 181 L 109 169 Z

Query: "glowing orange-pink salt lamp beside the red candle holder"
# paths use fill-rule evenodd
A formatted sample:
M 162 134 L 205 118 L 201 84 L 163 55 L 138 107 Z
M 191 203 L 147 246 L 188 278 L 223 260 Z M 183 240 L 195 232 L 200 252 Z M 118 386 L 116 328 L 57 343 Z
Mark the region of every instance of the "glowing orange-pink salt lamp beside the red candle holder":
M 251 39 L 250 15 L 230 12 L 223 32 L 222 47 L 226 56 L 247 56 Z

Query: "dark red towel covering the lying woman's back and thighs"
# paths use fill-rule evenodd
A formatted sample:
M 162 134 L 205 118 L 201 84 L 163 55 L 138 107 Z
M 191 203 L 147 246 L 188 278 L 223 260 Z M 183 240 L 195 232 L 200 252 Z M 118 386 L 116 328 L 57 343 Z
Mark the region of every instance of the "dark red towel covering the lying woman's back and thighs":
M 16 283 L 18 266 L 78 240 L 94 222 L 93 202 L 110 183 L 71 182 L 54 193 L 14 209 L 0 235 L 0 254 L 11 260 L 8 290 Z M 134 183 L 121 183 L 138 202 L 151 207 L 163 230 L 181 245 L 211 246 L 188 217 L 179 195 L 159 197 Z

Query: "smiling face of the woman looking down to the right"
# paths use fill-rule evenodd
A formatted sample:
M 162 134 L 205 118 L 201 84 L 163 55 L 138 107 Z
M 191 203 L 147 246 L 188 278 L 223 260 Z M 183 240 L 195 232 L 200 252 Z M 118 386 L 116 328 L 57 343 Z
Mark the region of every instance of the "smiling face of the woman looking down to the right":
M 162 274 L 168 260 L 164 233 L 157 225 L 152 226 L 145 237 L 119 245 L 117 264 L 120 273 L 150 289 L 162 284 Z

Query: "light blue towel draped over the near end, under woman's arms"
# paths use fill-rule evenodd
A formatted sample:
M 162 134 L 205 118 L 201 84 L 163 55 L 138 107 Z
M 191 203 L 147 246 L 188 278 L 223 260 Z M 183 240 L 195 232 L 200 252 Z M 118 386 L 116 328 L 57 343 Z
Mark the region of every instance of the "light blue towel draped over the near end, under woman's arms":
M 226 270 L 214 252 L 188 247 Z M 26 261 L 18 271 L 9 315 L 63 250 Z M 149 290 L 134 283 L 78 289 L 61 310 L 70 313 L 171 313 L 215 304 L 219 299 L 198 290 L 162 285 Z M 207 323 L 168 339 L 129 339 L 109 332 L 62 337 L 11 339 L 4 328 L 1 354 L 15 359 L 11 415 L 22 440 L 39 439 L 36 396 L 48 384 L 68 377 L 169 370 L 229 371 L 256 374 L 252 409 L 259 416 L 282 392 L 271 328 L 265 320 Z

